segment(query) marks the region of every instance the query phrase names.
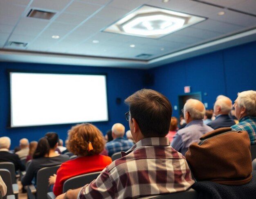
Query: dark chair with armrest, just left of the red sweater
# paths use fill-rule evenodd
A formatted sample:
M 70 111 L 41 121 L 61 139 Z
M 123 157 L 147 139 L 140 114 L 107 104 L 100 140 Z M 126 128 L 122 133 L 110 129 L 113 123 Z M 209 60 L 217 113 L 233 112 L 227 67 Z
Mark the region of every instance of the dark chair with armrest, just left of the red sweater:
M 27 186 L 28 199 L 46 199 L 47 192 L 50 191 L 48 179 L 51 175 L 56 174 L 61 165 L 44 167 L 38 170 L 36 174 L 36 188 L 34 185 Z

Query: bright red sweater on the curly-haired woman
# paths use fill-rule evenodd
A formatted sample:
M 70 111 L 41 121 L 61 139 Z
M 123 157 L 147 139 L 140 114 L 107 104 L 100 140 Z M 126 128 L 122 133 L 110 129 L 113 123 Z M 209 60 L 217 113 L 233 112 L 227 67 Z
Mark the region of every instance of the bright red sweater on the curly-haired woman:
M 112 162 L 111 158 L 104 155 L 93 155 L 78 157 L 61 164 L 57 171 L 56 182 L 54 183 L 53 192 L 58 196 L 62 194 L 64 182 L 74 176 L 102 171 Z

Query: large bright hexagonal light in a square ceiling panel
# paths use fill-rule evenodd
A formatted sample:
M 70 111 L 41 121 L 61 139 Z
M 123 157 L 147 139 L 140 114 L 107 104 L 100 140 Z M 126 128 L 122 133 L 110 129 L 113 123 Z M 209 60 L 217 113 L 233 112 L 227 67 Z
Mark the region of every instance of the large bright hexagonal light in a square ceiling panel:
M 159 38 L 203 20 L 206 18 L 144 5 L 110 25 L 104 31 Z

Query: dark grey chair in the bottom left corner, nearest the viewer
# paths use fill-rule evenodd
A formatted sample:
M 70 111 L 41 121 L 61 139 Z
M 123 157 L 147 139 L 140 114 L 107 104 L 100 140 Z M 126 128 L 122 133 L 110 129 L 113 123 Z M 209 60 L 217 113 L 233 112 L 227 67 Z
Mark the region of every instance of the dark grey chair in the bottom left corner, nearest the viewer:
M 15 195 L 15 198 L 18 199 L 19 188 L 17 183 L 12 183 L 11 172 L 7 169 L 0 169 L 0 175 L 7 186 L 6 196 L 2 197 L 7 199 L 9 195 Z

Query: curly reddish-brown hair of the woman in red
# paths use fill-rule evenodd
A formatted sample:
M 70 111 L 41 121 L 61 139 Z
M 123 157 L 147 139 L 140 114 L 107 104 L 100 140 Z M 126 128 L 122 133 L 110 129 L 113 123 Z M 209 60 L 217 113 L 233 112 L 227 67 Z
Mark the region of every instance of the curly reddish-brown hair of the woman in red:
M 88 143 L 92 143 L 93 150 L 88 152 Z M 73 126 L 68 131 L 67 149 L 75 155 L 89 156 L 103 151 L 105 140 L 101 131 L 94 125 L 82 123 Z

